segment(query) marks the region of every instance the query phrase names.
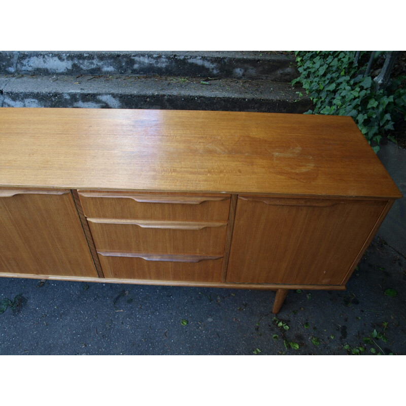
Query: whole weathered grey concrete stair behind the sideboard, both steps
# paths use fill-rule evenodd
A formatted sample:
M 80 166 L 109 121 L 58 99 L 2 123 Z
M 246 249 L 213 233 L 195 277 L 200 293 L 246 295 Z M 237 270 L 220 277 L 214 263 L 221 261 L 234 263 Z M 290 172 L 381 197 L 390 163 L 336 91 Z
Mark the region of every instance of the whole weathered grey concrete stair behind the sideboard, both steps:
M 295 77 L 282 52 L 0 52 L 0 107 L 303 113 Z

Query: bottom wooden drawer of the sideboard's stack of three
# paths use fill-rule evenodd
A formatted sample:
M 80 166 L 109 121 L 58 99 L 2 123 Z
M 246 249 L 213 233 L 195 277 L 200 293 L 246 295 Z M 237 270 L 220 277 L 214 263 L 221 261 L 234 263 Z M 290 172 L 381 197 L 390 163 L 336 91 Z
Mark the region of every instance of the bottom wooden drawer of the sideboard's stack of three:
M 98 252 L 106 278 L 220 282 L 222 257 L 164 256 Z M 198 262 L 193 262 L 198 261 Z

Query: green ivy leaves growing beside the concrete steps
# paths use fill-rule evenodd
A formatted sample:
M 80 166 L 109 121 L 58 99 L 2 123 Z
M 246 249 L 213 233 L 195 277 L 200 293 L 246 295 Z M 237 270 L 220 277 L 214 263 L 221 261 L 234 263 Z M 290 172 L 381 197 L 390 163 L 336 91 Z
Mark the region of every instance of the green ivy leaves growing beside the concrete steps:
M 375 152 L 383 133 L 406 119 L 406 88 L 401 86 L 406 77 L 377 91 L 373 79 L 364 77 L 365 65 L 354 66 L 353 51 L 296 51 L 295 55 L 300 76 L 292 85 L 300 82 L 314 104 L 304 114 L 353 117 Z

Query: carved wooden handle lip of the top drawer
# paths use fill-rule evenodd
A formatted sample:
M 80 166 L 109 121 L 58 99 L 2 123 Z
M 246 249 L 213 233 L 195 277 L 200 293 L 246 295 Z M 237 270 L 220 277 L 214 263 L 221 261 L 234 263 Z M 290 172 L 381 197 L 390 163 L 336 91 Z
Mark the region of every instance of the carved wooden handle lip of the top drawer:
M 79 192 L 84 197 L 109 197 L 109 198 L 124 198 L 132 199 L 139 203 L 172 203 L 182 205 L 199 205 L 204 201 L 221 201 L 227 200 L 230 196 L 158 196 L 156 194 L 114 194 L 114 193 L 88 193 Z

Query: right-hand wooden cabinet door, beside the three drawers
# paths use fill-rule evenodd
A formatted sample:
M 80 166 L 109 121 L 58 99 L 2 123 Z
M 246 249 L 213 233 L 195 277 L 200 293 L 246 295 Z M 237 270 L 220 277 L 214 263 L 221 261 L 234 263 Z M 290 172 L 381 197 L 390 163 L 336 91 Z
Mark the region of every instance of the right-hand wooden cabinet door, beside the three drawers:
M 385 205 L 239 196 L 226 281 L 341 285 Z

